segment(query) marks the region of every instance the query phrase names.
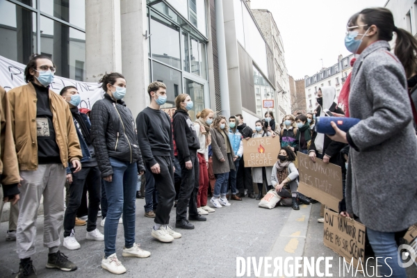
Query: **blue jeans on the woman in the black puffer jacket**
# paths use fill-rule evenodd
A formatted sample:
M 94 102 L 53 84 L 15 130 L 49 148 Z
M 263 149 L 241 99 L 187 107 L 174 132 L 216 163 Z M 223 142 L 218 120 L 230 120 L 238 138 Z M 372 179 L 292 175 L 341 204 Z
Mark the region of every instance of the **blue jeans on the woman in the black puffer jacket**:
M 104 254 L 106 258 L 116 252 L 117 226 L 123 213 L 124 246 L 131 248 L 135 243 L 136 183 L 138 166 L 136 163 L 110 158 L 113 167 L 113 181 L 104 181 L 108 211 L 104 224 Z

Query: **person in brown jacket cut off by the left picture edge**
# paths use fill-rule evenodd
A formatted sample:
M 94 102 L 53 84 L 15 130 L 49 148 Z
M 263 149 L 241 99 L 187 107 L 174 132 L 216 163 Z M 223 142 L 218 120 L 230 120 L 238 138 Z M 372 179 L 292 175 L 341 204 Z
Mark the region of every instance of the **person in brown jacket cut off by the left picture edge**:
M 10 202 L 9 240 L 16 233 L 15 223 L 19 215 L 19 166 L 13 140 L 10 107 L 6 91 L 0 86 L 0 220 L 3 205 Z M 10 237 L 9 237 L 10 236 Z

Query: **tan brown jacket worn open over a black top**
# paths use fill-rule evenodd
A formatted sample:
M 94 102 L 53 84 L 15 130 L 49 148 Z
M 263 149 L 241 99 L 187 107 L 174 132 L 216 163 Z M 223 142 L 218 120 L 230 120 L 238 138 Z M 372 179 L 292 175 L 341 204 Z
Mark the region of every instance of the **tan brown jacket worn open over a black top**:
M 36 91 L 32 83 L 8 91 L 13 136 L 16 143 L 19 170 L 38 170 L 38 132 L 36 127 Z M 56 133 L 60 160 L 81 160 L 83 154 L 76 135 L 74 121 L 67 101 L 49 90 L 52 124 Z

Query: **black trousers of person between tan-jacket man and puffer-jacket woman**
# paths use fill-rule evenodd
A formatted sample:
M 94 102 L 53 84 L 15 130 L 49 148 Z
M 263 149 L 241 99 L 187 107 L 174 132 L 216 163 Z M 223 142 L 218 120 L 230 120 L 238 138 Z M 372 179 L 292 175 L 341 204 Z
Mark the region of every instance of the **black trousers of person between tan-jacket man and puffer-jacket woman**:
M 88 189 L 88 223 L 87 231 L 96 229 L 97 213 L 101 197 L 99 167 L 83 167 L 80 172 L 72 174 L 70 198 L 64 216 L 64 237 L 70 236 L 75 225 L 76 211 L 81 204 L 84 184 Z

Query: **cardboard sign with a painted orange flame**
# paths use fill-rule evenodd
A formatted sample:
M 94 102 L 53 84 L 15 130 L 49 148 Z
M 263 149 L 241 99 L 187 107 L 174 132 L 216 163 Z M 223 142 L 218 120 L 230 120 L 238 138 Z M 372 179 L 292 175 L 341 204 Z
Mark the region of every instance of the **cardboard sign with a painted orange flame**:
M 277 162 L 280 149 L 278 136 L 243 140 L 245 167 L 273 166 Z

